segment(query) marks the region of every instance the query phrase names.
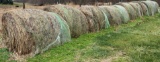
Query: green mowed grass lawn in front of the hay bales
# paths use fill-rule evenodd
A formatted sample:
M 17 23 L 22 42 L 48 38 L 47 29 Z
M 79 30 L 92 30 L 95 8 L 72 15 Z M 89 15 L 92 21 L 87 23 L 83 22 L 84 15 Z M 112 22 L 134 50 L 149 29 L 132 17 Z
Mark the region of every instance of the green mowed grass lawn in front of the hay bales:
M 0 61 L 8 61 L 9 54 L 6 49 L 0 49 Z M 27 61 L 160 62 L 160 14 L 81 35 Z

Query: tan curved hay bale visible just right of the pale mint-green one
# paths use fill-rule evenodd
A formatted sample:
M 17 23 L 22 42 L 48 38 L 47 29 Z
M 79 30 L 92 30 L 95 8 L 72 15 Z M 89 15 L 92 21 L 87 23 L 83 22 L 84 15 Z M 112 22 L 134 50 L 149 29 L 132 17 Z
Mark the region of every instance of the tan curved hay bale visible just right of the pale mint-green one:
M 136 19 L 136 10 L 129 3 L 117 3 L 116 5 L 123 6 L 128 11 L 131 20 Z

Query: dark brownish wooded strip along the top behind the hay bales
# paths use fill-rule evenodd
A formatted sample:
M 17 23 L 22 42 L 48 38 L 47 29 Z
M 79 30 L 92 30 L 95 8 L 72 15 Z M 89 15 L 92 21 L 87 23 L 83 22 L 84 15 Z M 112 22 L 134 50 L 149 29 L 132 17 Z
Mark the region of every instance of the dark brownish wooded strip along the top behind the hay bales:
M 4 1 L 4 0 L 0 0 Z M 8 0 L 6 0 L 8 1 Z M 13 0 L 16 2 L 22 2 L 23 0 Z M 142 0 L 25 0 L 27 3 L 31 3 L 33 5 L 43 5 L 43 4 L 67 4 L 67 3 L 74 3 L 79 5 L 86 5 L 86 4 L 95 4 L 97 2 L 99 3 L 107 3 L 112 2 L 112 4 L 118 3 L 118 2 L 130 2 L 130 1 L 142 1 Z M 160 0 L 153 0 L 159 3 Z

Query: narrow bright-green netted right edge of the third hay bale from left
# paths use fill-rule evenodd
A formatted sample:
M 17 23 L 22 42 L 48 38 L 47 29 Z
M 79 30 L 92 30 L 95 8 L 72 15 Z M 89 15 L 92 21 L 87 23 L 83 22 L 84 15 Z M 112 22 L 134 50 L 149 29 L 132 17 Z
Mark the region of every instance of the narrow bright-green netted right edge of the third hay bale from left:
M 104 16 L 105 16 L 105 28 L 110 27 L 110 23 L 108 20 L 109 17 L 109 12 L 106 10 L 105 6 L 99 6 L 99 9 L 103 12 Z

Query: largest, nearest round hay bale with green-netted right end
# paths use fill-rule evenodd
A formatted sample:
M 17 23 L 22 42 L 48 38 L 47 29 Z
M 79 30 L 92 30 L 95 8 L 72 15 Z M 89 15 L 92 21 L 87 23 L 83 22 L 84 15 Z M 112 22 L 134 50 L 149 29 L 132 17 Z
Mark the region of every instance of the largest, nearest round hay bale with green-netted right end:
M 3 43 L 19 55 L 43 53 L 70 41 L 69 27 L 55 13 L 36 9 L 12 10 L 2 16 Z M 62 40 L 61 40 L 62 38 Z

